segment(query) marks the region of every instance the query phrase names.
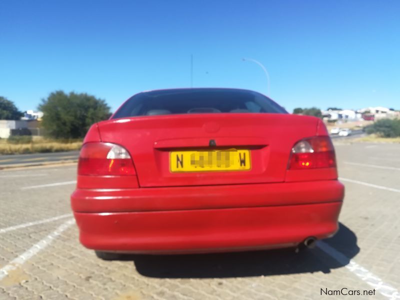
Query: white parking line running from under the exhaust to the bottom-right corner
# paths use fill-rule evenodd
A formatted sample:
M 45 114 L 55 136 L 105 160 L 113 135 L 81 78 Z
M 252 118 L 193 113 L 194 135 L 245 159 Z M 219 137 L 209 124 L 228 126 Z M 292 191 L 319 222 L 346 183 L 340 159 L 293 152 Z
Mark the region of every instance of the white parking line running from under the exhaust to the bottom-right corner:
M 366 268 L 362 267 L 352 259 L 347 258 L 343 253 L 337 251 L 335 248 L 332 248 L 327 243 L 323 241 L 317 242 L 317 247 L 324 251 L 326 254 L 334 258 L 340 264 L 345 265 L 345 267 L 355 274 L 358 278 L 365 281 L 367 284 L 376 289 L 380 294 L 389 298 L 389 299 L 400 299 L 400 292 L 391 286 L 382 281 L 379 277 L 372 274 Z

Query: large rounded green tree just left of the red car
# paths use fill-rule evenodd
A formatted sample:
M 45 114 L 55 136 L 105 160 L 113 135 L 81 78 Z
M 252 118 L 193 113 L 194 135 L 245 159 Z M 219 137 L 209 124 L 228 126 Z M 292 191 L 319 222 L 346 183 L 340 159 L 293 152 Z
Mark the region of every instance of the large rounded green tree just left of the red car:
M 55 138 L 83 137 L 91 124 L 107 119 L 110 108 L 102 99 L 87 93 L 62 90 L 50 93 L 38 107 L 43 111 L 42 126 Z

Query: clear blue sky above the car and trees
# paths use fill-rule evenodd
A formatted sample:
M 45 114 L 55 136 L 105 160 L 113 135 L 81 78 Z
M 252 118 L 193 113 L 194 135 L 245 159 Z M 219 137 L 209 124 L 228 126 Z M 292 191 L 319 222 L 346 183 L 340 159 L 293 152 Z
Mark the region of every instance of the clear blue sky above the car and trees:
M 148 89 L 267 92 L 288 110 L 400 109 L 400 1 L 0 1 L 0 95 L 21 110 L 51 91 L 115 110 Z

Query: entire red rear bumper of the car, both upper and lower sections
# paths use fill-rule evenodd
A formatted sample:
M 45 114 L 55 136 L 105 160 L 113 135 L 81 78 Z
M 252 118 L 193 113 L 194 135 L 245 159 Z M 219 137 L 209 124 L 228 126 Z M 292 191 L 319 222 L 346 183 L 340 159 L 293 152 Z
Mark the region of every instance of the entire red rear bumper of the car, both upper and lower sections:
M 162 193 L 155 192 L 159 190 Z M 81 243 L 131 253 L 294 246 L 308 236 L 334 234 L 343 199 L 343 185 L 337 180 L 136 191 L 76 190 L 71 201 Z M 127 208 L 130 211 L 122 210 Z

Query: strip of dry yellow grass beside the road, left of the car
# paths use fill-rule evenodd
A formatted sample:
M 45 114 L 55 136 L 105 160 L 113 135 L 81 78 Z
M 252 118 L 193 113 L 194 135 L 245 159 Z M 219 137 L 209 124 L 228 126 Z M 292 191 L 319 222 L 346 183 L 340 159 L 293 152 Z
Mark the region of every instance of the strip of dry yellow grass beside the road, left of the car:
M 30 143 L 14 144 L 0 139 L 0 154 L 21 154 L 38 152 L 60 152 L 79 150 L 81 140 L 55 140 L 46 138 L 34 138 Z

